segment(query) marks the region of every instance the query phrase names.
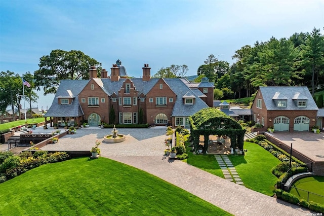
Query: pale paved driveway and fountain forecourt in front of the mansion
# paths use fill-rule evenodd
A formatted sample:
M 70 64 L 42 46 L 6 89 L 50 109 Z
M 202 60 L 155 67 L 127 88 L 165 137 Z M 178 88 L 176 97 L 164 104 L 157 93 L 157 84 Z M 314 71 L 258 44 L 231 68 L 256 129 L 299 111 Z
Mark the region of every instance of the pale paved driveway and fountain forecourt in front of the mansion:
M 38 129 L 37 129 L 38 130 Z M 50 131 L 47 129 L 47 131 Z M 111 134 L 111 128 L 78 129 L 74 135 L 66 135 L 59 142 L 47 145 L 42 150 L 90 150 L 98 139 Z M 127 135 L 121 143 L 102 143 L 103 157 L 144 170 L 165 181 L 188 191 L 234 215 L 306 215 L 310 211 L 299 206 L 277 200 L 252 191 L 224 178 L 164 156 L 165 128 L 127 129 L 118 128 L 118 133 Z M 226 168 L 234 177 L 234 167 L 226 160 Z M 224 169 L 225 171 L 225 169 Z M 235 181 L 236 182 L 236 181 Z M 239 181 L 237 181 L 239 182 Z M 236 182 L 236 183 L 237 183 Z M 149 200 L 148 200 L 149 201 Z M 211 212 L 211 215 L 213 213 Z

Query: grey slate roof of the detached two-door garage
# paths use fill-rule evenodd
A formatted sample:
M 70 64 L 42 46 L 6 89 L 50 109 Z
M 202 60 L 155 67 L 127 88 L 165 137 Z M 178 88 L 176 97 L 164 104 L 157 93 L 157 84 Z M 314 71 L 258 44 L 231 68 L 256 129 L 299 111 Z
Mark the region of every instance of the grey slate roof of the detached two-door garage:
M 269 110 L 318 110 L 318 107 L 313 100 L 307 87 L 287 87 L 287 86 L 275 86 L 275 87 L 259 87 L 259 91 L 262 93 L 263 101 L 266 105 L 266 109 Z M 272 99 L 279 95 L 287 97 L 287 107 L 277 107 L 275 100 Z M 295 99 L 293 99 L 295 98 Z M 307 99 L 307 107 L 298 107 L 296 99 Z

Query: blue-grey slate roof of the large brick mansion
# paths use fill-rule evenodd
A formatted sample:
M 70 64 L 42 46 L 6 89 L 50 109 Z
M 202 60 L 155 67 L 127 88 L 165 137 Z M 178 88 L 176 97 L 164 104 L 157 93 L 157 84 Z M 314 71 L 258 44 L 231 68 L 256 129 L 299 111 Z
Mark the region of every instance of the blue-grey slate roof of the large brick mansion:
M 94 78 L 93 80 L 103 89 L 107 95 L 113 93 L 118 95 L 121 85 L 127 78 L 120 78 L 117 82 L 111 82 L 109 78 L 100 79 Z M 157 83 L 159 78 L 150 79 L 150 81 L 143 81 L 141 78 L 130 79 L 136 90 L 138 96 L 141 94 L 146 95 L 152 87 Z M 62 80 L 59 88 L 57 89 L 55 99 L 45 114 L 45 117 L 76 117 L 84 115 L 78 101 L 77 95 L 85 88 L 90 80 Z M 164 81 L 168 86 L 171 87 L 173 92 L 177 95 L 175 105 L 173 107 L 172 116 L 191 116 L 197 111 L 208 107 L 208 105 L 199 98 L 201 92 L 198 89 L 192 90 L 183 82 L 183 79 L 169 79 L 165 78 Z M 63 96 L 72 97 L 73 101 L 71 104 L 58 104 L 58 99 Z M 185 105 L 183 104 L 182 97 L 195 98 L 194 104 Z

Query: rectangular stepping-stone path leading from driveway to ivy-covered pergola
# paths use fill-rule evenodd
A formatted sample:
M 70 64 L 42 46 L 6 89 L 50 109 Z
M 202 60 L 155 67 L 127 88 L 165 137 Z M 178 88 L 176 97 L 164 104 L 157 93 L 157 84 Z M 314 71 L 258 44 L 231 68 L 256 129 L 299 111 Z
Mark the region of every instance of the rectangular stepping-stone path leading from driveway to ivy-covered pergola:
M 234 182 L 237 185 L 244 185 L 227 155 L 215 155 L 215 158 L 226 180 Z

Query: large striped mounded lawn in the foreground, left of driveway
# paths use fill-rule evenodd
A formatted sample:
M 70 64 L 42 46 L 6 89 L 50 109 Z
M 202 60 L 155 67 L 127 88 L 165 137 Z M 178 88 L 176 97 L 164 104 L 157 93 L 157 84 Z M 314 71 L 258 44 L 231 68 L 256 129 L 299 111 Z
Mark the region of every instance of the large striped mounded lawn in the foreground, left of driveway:
M 107 158 L 46 164 L 0 184 L 2 215 L 230 215 Z

